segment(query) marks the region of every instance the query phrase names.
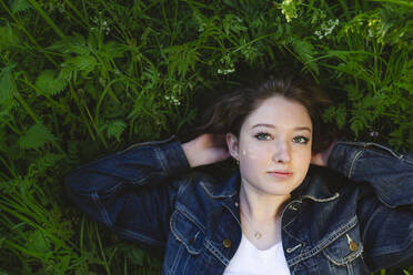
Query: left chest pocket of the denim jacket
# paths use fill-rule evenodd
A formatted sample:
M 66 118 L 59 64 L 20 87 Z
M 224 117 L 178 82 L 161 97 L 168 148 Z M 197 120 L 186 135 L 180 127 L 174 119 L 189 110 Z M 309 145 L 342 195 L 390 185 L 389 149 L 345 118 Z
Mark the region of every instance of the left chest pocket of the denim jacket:
M 204 247 L 204 233 L 188 215 L 175 210 L 171 216 L 171 232 L 188 253 L 198 255 Z

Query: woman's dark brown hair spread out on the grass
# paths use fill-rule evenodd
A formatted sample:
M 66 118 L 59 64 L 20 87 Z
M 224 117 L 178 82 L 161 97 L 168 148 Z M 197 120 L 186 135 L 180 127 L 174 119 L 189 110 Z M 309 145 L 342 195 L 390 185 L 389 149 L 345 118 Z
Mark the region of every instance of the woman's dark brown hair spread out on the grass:
M 322 113 L 332 102 L 315 83 L 299 75 L 270 77 L 258 86 L 238 89 L 220 98 L 203 115 L 198 133 L 233 133 L 239 138 L 245 119 L 260 104 L 274 95 L 281 95 L 302 104 L 313 123 L 314 153 L 326 149 L 336 136 L 335 125 L 323 122 Z

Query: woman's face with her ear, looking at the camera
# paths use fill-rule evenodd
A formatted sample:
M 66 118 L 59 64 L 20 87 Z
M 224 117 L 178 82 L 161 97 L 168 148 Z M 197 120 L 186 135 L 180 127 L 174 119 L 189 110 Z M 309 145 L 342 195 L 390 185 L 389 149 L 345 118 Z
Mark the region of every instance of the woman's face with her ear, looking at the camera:
M 283 96 L 262 102 L 241 126 L 226 134 L 231 155 L 240 161 L 248 190 L 289 196 L 304 180 L 311 161 L 312 122 L 306 109 Z

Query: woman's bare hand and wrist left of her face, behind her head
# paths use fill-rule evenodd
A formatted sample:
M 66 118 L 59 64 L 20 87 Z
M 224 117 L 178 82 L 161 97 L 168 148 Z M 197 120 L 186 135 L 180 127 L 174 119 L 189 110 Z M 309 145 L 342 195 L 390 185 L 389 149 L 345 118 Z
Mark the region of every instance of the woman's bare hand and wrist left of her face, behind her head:
M 230 157 L 225 134 L 201 134 L 182 144 L 191 167 L 212 164 Z

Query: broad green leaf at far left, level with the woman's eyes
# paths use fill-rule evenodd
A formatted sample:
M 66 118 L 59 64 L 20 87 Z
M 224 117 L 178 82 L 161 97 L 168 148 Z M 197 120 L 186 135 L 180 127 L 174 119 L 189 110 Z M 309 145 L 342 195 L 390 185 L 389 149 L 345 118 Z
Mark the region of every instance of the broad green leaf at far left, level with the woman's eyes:
M 54 135 L 41 123 L 31 126 L 23 136 L 19 139 L 22 149 L 39 149 L 48 142 L 54 141 Z

